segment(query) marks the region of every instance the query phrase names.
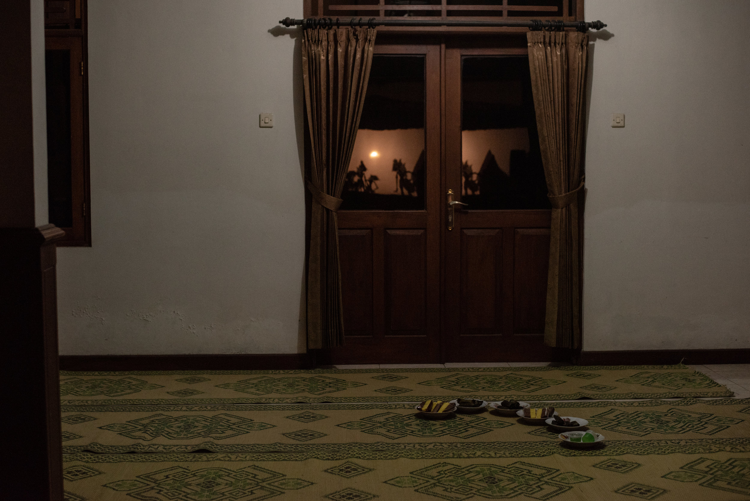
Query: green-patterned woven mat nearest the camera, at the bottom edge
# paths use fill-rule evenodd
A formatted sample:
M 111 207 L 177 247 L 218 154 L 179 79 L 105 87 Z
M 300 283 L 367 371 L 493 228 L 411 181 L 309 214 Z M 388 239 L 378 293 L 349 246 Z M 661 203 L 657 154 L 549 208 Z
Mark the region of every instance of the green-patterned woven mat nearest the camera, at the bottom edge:
M 750 453 L 257 460 L 242 454 L 65 455 L 66 501 L 746 501 Z

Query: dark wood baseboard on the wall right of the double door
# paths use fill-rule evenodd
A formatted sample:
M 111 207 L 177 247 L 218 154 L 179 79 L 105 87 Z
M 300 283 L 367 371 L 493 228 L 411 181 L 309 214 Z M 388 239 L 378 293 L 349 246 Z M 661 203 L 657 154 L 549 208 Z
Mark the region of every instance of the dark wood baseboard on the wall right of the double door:
M 577 365 L 750 364 L 750 349 L 580 352 Z

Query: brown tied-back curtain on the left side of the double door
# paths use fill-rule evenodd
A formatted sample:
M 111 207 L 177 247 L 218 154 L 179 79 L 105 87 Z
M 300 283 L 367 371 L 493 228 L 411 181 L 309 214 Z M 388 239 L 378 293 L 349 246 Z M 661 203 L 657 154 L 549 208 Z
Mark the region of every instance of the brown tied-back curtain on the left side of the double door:
M 308 348 L 344 344 L 336 211 L 370 77 L 374 28 L 306 29 L 302 79 L 311 138 L 313 206 L 308 262 Z

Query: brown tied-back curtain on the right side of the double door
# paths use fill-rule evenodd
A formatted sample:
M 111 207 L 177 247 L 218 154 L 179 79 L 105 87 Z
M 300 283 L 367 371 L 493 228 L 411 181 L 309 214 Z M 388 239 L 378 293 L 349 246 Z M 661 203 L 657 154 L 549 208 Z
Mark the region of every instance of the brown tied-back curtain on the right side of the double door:
M 552 226 L 544 344 L 580 348 L 583 122 L 589 35 L 529 31 L 529 68 Z

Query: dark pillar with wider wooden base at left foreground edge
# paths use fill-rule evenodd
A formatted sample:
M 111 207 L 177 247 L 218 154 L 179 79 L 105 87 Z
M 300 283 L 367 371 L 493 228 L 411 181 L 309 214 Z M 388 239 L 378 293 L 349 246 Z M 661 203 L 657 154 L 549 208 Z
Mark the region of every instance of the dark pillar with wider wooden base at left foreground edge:
M 34 130 L 46 125 L 39 123 L 43 102 L 35 99 L 43 89 L 34 88 L 39 81 L 32 75 L 34 66 L 44 68 L 43 40 L 34 40 L 43 30 L 38 3 L 5 2 L 0 30 L 2 497 L 62 501 L 54 242 L 63 232 L 49 224 L 35 227 L 46 217 L 35 203 L 37 194 L 46 196 L 38 193 L 46 183 L 34 175 L 34 153 L 46 156 L 34 151 Z

